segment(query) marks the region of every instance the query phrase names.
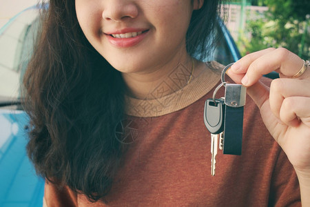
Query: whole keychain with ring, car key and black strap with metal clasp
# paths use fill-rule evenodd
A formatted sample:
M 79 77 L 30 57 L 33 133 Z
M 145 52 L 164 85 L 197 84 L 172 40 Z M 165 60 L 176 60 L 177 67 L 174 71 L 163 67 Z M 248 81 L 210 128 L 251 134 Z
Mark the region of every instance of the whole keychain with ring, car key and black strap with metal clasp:
M 212 99 L 205 101 L 204 121 L 211 133 L 211 175 L 215 175 L 218 147 L 227 155 L 241 155 L 242 151 L 243 110 L 247 88 L 225 81 L 225 74 L 233 64 L 230 63 L 223 69 L 220 85 L 214 90 Z M 225 86 L 225 97 L 216 99 L 216 93 L 222 86 Z

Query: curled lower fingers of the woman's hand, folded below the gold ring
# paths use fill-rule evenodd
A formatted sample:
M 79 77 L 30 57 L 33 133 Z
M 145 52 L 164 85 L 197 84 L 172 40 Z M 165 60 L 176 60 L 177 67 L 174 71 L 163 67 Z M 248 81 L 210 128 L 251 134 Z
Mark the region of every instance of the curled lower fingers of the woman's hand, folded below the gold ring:
M 310 81 L 299 79 L 275 79 L 271 82 L 269 103 L 276 117 L 289 126 L 299 123 L 300 115 L 310 113 Z M 296 100 L 301 101 L 300 103 Z M 306 102 L 304 102 L 306 101 Z M 304 105 L 304 104 L 308 105 Z M 293 105 L 294 104 L 294 105 Z M 307 107 L 308 106 L 308 107 Z M 303 113 L 300 110 L 304 110 Z M 294 110 L 293 110 L 294 109 Z M 298 114 L 296 114 L 298 112 Z

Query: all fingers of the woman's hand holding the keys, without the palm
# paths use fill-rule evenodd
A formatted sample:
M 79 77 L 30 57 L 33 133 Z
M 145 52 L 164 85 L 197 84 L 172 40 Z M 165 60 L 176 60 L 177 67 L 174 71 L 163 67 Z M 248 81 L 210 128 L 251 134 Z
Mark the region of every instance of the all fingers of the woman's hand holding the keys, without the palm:
M 231 66 L 227 74 L 236 83 L 242 81 L 242 84 L 249 86 L 247 92 L 258 108 L 268 101 L 271 110 L 269 112 L 278 118 L 279 123 L 298 126 L 300 115 L 307 117 L 310 110 L 307 107 L 310 105 L 303 105 L 309 104 L 307 101 L 310 99 L 309 67 L 300 77 L 292 78 L 304 66 L 303 64 L 304 61 L 300 57 L 285 48 L 268 48 L 242 57 Z M 277 70 L 281 78 L 273 80 L 269 89 L 258 80 L 273 70 Z M 296 100 L 302 102 L 298 103 Z

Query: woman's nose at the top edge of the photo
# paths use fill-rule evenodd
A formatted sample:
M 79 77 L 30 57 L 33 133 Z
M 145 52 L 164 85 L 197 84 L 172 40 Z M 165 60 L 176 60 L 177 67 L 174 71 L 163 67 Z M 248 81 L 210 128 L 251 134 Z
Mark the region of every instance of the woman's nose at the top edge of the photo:
M 102 17 L 108 21 L 123 21 L 138 16 L 138 7 L 132 0 L 106 0 Z

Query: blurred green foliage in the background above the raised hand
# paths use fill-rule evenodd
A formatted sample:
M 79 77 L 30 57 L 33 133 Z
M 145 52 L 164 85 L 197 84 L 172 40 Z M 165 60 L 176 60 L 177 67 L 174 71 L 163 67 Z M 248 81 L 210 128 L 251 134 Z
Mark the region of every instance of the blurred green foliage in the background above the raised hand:
M 284 47 L 303 59 L 309 59 L 310 1 L 264 0 L 264 3 L 269 11 L 262 18 L 247 21 L 245 31 L 240 32 L 237 44 L 241 54 L 269 47 Z

